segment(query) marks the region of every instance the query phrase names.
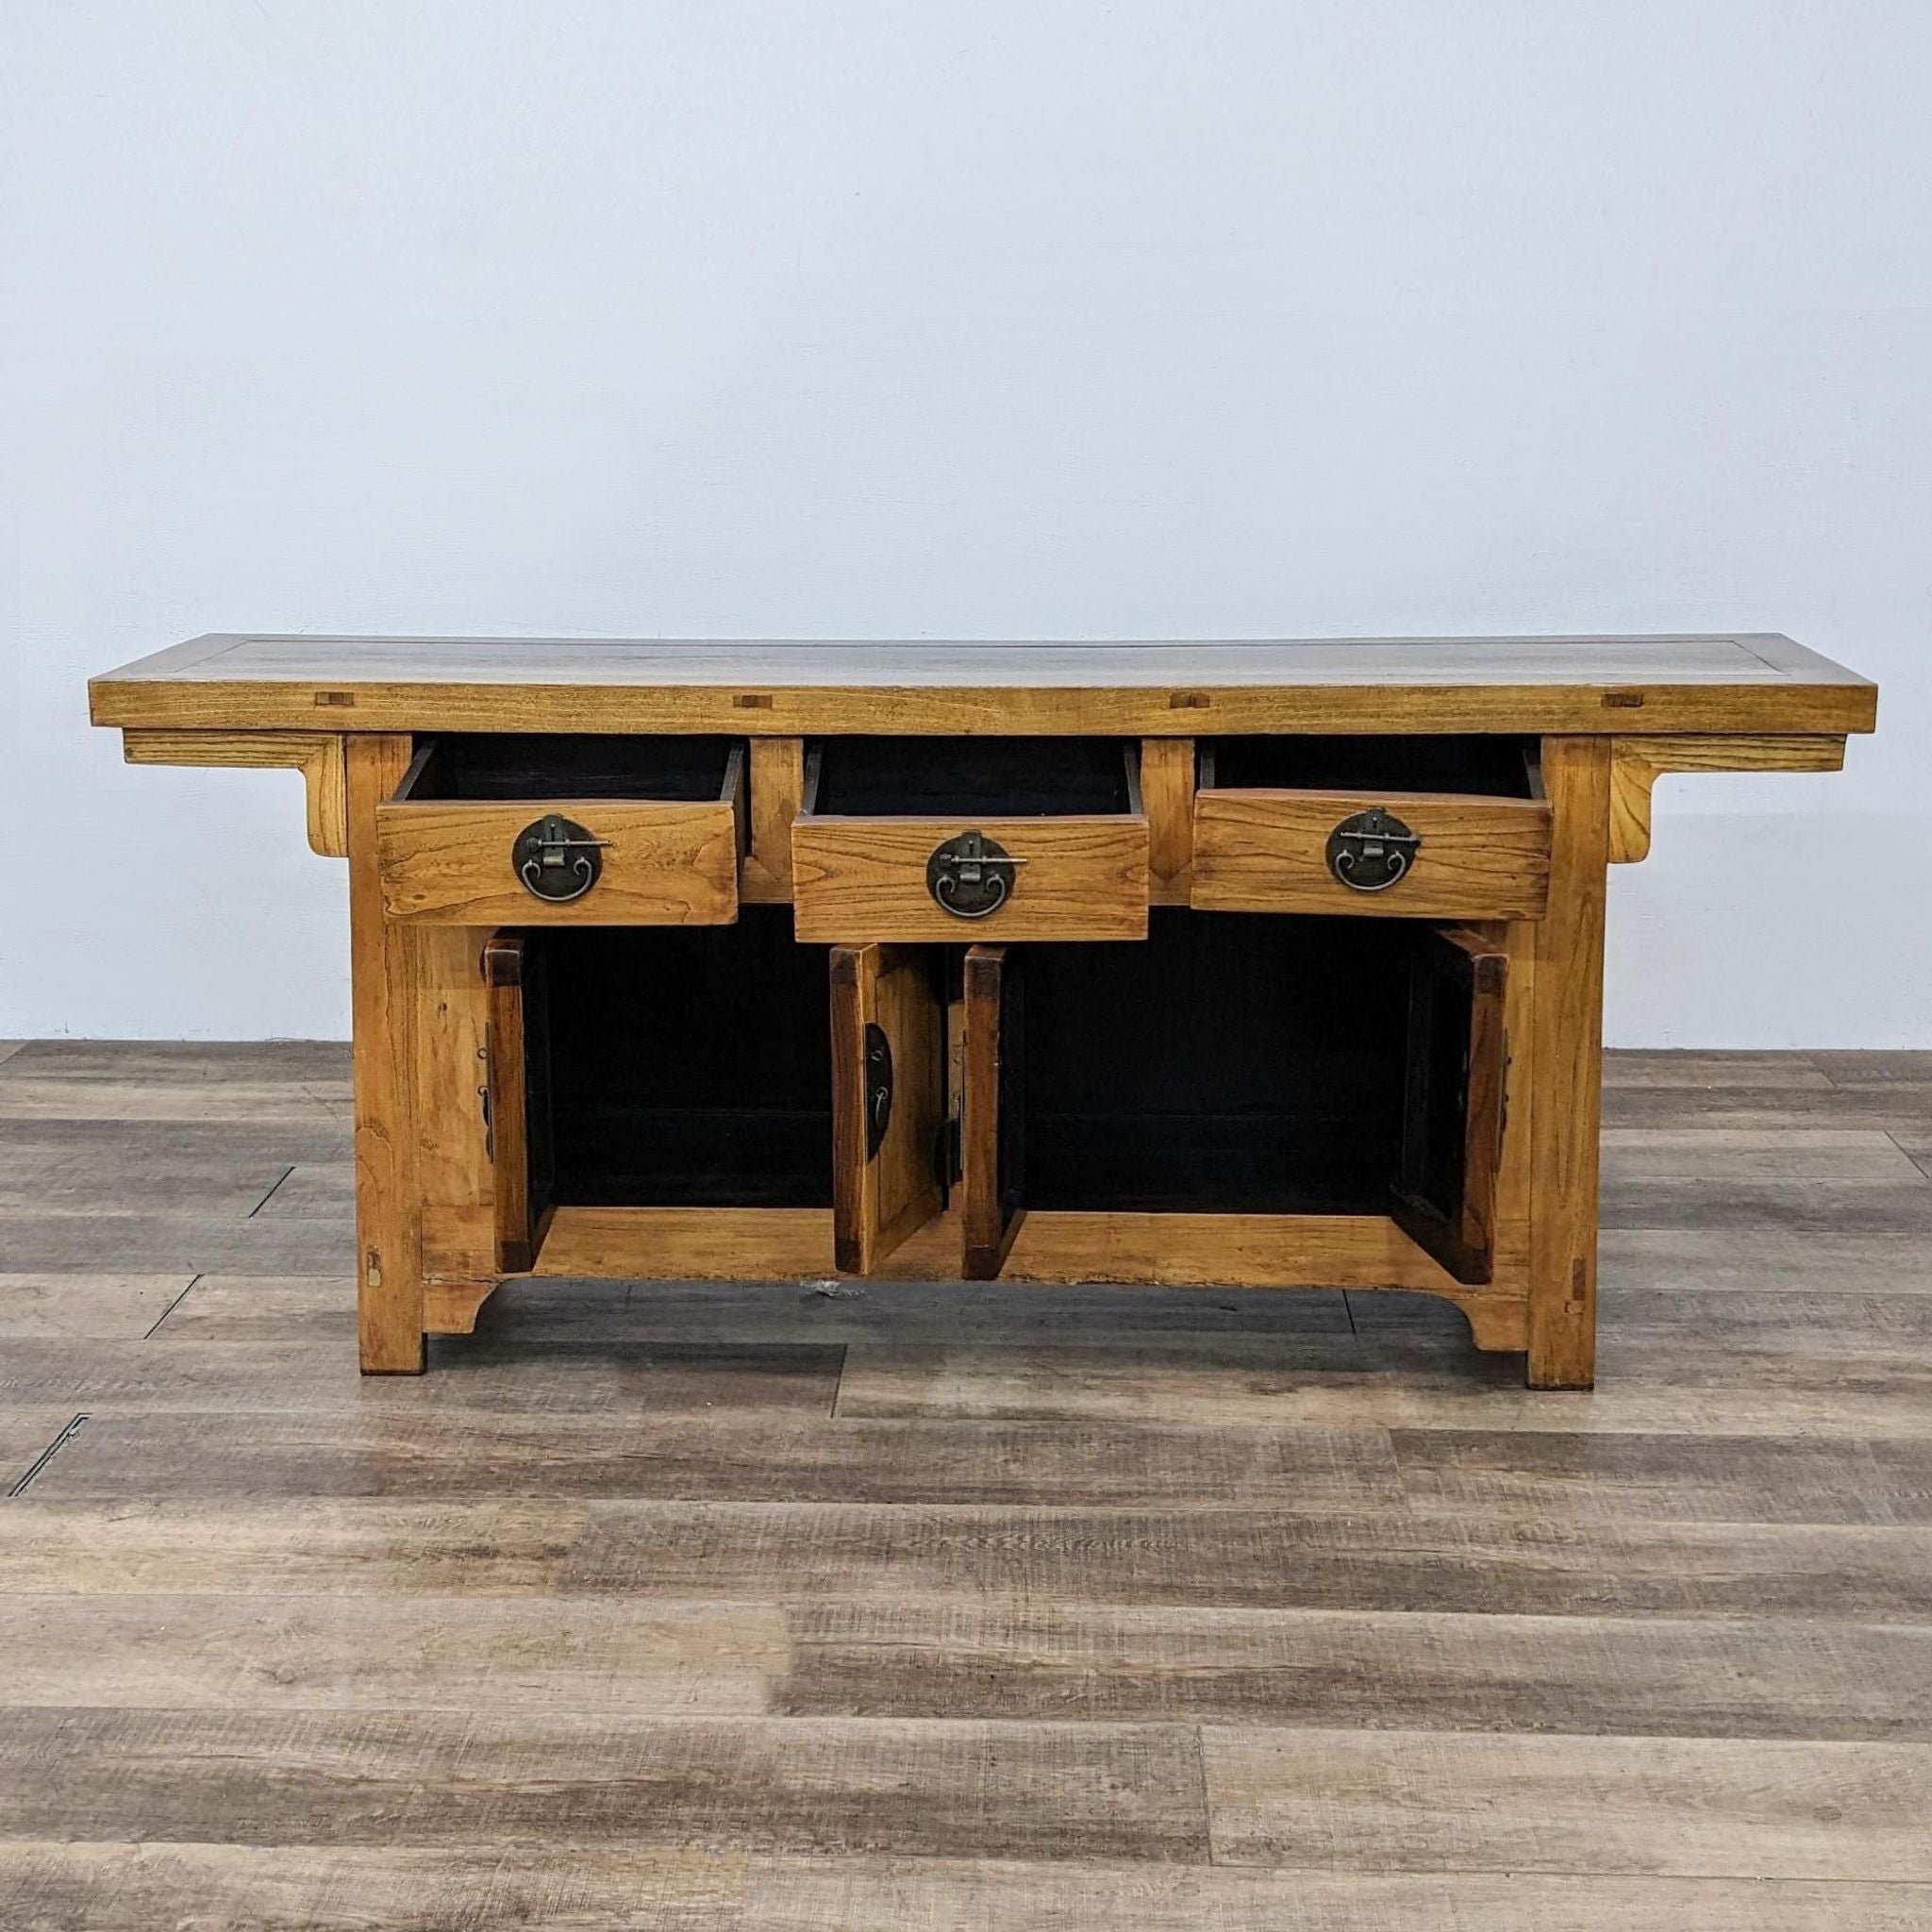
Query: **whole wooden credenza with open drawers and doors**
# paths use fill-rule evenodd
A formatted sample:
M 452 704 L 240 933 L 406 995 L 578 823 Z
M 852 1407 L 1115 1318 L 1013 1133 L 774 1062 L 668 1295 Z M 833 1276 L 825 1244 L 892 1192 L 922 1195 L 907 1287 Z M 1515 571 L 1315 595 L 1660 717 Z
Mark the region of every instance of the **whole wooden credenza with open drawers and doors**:
M 348 860 L 365 1372 L 510 1275 L 848 1273 L 1418 1289 L 1536 1387 L 1605 867 L 1876 713 L 1781 636 L 207 636 L 91 699 Z

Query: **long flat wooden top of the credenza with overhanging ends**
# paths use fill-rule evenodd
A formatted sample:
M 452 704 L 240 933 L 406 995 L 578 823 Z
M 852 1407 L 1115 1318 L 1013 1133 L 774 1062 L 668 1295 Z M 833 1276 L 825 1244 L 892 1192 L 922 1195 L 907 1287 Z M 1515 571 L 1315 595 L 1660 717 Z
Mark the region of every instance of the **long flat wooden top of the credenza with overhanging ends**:
M 168 730 L 1870 730 L 1876 686 L 1777 634 L 856 641 L 209 634 L 99 676 Z

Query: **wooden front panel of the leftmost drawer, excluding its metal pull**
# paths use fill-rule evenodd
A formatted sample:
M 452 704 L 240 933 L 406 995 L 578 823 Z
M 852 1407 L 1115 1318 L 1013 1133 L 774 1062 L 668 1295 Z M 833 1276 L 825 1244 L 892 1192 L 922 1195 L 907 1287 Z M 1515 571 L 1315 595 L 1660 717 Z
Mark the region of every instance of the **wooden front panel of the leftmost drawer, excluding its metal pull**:
M 578 898 L 524 885 L 512 856 L 545 817 L 601 840 Z M 512 800 L 377 808 L 383 910 L 440 925 L 728 925 L 738 918 L 736 810 L 653 800 Z M 572 854 L 574 856 L 574 854 Z

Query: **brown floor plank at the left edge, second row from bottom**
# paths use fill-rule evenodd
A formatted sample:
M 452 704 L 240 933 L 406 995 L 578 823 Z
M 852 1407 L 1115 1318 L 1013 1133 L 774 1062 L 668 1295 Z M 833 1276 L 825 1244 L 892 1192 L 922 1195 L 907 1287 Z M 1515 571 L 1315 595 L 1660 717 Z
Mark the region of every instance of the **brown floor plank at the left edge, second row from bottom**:
M 17 1708 L 14 1837 L 1192 1859 L 1186 1727 Z

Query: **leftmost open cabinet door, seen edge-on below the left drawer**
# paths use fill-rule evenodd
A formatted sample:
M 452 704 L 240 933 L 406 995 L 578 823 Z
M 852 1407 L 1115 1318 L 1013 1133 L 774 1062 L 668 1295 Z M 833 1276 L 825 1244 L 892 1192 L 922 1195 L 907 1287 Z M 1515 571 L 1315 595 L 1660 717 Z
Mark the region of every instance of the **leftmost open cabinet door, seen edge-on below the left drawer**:
M 497 1194 L 497 1267 L 527 1273 L 551 1227 L 551 1028 L 541 941 L 493 933 L 483 947 L 489 1053 L 483 1121 Z

